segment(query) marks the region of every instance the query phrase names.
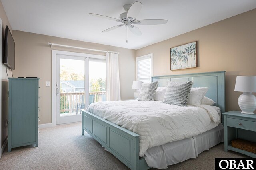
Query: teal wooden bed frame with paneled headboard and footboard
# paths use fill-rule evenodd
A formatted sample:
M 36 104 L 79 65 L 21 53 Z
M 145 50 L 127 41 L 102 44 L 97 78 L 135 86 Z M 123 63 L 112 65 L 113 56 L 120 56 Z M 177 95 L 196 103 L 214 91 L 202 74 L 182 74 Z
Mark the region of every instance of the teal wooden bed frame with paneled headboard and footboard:
M 209 89 L 205 96 L 213 99 L 216 102 L 215 105 L 221 109 L 221 112 L 225 111 L 225 71 L 152 77 L 152 82 L 159 81 L 159 86 L 166 86 L 167 81 L 187 82 L 190 80 L 194 81 L 193 87 L 208 87 Z M 216 128 L 221 127 L 218 126 Z M 134 170 L 146 170 L 150 168 L 145 161 L 145 157 L 146 159 L 150 159 L 154 156 L 151 155 L 150 157 L 150 153 L 145 153 L 145 157 L 139 156 L 140 135 L 88 111 L 82 110 L 82 135 L 84 135 L 84 131 L 102 144 L 106 150 L 116 156 L 116 158 L 128 166 L 128 168 Z M 210 132 L 212 131 L 209 130 L 207 133 Z M 203 134 L 205 135 L 205 133 Z M 212 134 L 216 134 L 218 136 L 220 135 L 220 131 L 214 131 Z M 210 134 L 210 136 L 212 136 L 212 134 Z M 198 155 L 200 152 L 205 150 L 205 148 L 200 148 L 200 141 L 202 141 L 200 138 L 205 137 L 202 135 L 197 135 L 186 139 L 187 142 L 192 143 L 193 147 L 196 146 L 196 148 L 194 147 L 195 149 L 193 150 L 195 155 Z M 182 142 L 186 141 L 182 140 Z M 174 142 L 172 143 L 175 144 Z M 210 147 L 212 147 L 212 145 L 214 146 L 214 144 L 210 145 Z M 170 163 L 167 162 L 167 164 Z

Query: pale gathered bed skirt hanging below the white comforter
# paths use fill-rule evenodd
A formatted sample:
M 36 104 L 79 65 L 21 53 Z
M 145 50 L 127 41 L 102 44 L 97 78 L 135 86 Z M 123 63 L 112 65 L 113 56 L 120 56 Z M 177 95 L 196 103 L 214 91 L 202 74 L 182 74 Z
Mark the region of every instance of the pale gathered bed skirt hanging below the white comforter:
M 196 158 L 204 150 L 209 150 L 209 148 L 223 141 L 224 127 L 220 123 L 212 130 L 206 131 L 198 136 L 148 148 L 144 158 L 148 166 L 166 169 L 168 165 L 177 164 L 190 158 Z

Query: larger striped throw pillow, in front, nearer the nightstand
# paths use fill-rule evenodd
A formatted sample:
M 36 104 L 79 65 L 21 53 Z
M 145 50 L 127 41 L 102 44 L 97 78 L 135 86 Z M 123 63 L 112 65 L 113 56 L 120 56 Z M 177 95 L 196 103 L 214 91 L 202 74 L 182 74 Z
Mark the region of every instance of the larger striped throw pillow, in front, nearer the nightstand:
M 167 85 L 167 90 L 164 94 L 162 103 L 186 106 L 192 85 L 193 81 L 188 81 L 186 83 L 170 81 Z

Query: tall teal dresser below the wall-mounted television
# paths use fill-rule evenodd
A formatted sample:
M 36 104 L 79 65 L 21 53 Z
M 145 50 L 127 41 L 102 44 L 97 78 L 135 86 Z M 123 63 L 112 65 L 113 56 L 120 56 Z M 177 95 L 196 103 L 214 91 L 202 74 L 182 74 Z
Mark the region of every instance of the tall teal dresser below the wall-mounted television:
M 38 146 L 38 89 L 39 79 L 9 78 L 8 152 Z

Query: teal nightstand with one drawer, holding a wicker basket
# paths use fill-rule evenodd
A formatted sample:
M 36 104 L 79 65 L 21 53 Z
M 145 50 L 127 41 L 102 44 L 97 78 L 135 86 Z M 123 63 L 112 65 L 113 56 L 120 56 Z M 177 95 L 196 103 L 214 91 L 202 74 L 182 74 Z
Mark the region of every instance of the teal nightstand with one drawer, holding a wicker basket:
M 224 151 L 232 150 L 253 158 L 256 154 L 231 146 L 231 141 L 237 138 L 256 142 L 256 114 L 243 114 L 240 111 L 222 113 L 224 115 Z

